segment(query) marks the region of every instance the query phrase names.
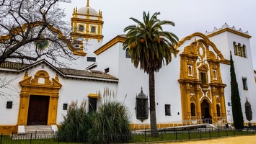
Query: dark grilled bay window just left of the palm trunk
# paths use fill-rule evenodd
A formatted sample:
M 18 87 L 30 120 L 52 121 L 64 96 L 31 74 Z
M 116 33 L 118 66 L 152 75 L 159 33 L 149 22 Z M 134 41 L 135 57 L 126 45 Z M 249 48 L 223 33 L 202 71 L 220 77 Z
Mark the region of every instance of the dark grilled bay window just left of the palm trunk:
M 149 98 L 144 94 L 142 87 L 141 93 L 136 96 L 136 118 L 143 122 L 149 118 Z

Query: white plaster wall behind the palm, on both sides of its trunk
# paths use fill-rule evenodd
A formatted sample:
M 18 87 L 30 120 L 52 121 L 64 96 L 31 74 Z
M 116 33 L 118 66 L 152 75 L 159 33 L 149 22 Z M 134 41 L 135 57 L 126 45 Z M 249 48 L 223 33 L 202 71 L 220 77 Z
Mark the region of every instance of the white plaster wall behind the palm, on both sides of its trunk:
M 118 98 L 128 106 L 132 114 L 132 120 L 137 124 L 149 123 L 150 120 L 141 122 L 136 119 L 136 95 L 143 88 L 144 94 L 149 96 L 149 76 L 141 70 L 140 67 L 135 68 L 131 63 L 131 58 L 125 58 L 125 50 L 122 45 L 119 48 L 120 64 L 119 64 L 119 83 L 118 83 Z M 180 84 L 177 79 L 180 74 L 180 59 L 172 59 L 172 63 L 168 66 L 163 66 L 159 73 L 155 74 L 155 94 L 156 94 L 156 117 L 157 122 L 170 122 L 182 120 L 181 102 L 180 102 Z M 171 104 L 172 116 L 165 116 L 164 104 Z M 180 115 L 177 114 L 180 112 Z

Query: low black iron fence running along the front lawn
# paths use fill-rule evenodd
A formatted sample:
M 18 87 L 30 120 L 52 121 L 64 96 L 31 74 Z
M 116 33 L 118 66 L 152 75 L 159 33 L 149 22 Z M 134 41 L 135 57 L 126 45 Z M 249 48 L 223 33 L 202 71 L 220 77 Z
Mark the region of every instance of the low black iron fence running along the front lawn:
M 151 137 L 147 130 L 133 131 L 120 135 L 61 135 L 58 132 L 30 132 L 0 136 L 0 144 L 67 144 L 67 143 L 147 143 L 158 141 L 196 140 L 229 137 L 234 135 L 255 135 L 255 129 L 234 130 L 226 127 L 197 129 L 162 129 L 159 137 Z

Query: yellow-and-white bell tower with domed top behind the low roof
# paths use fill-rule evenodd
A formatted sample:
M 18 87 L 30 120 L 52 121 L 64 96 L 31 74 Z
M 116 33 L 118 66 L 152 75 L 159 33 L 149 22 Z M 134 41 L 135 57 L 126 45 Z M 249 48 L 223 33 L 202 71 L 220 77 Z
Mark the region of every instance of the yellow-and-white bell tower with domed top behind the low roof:
M 85 5 L 85 4 L 84 4 Z M 84 50 L 87 55 L 79 58 L 84 68 L 97 62 L 94 51 L 102 46 L 102 12 L 98 12 L 89 6 L 87 0 L 86 6 L 79 9 L 74 8 L 71 17 L 71 38 L 76 48 Z M 88 62 L 88 63 L 87 63 Z M 84 69 L 82 68 L 82 69 Z

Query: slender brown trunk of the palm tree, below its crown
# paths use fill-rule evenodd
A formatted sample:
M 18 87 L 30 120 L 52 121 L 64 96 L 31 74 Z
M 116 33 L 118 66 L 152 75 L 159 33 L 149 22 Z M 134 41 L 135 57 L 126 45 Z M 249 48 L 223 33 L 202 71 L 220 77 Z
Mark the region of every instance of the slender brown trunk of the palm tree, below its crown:
M 150 126 L 151 136 L 158 137 L 156 127 L 156 102 L 155 102 L 155 91 L 154 91 L 154 71 L 149 72 L 149 103 L 150 103 Z

